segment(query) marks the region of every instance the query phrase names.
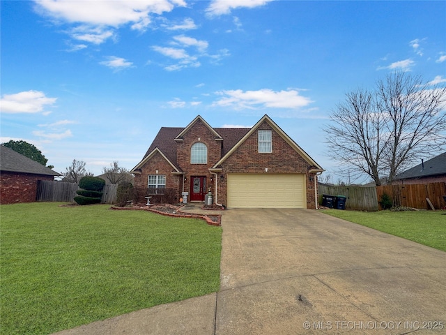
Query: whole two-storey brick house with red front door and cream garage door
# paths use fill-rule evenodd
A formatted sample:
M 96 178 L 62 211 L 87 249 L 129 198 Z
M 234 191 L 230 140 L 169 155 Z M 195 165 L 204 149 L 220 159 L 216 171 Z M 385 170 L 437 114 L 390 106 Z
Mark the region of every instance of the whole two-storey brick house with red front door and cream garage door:
M 211 192 L 229 208 L 314 209 L 323 169 L 268 115 L 252 128 L 213 128 L 197 116 L 185 128 L 162 127 L 130 172 L 140 194 L 171 188 L 188 201 Z

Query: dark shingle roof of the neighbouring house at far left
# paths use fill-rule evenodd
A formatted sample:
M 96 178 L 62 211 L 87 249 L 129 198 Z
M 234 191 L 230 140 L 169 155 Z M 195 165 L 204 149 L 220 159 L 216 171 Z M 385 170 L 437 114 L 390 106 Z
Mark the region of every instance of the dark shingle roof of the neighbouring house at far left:
M 5 172 L 20 172 L 30 174 L 43 174 L 47 176 L 60 176 L 61 174 L 47 168 L 45 165 L 23 156 L 13 149 L 0 145 L 0 170 Z

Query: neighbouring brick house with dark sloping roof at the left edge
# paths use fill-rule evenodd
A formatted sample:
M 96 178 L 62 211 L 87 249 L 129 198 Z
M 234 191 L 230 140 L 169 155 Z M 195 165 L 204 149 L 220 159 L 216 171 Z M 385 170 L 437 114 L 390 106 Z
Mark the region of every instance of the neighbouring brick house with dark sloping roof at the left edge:
M 37 181 L 61 174 L 0 145 L 0 204 L 36 201 Z

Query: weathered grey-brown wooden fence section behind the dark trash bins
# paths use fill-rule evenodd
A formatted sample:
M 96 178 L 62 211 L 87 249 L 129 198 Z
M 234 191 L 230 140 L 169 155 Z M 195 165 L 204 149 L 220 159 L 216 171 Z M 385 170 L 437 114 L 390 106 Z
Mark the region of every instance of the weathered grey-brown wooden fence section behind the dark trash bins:
M 319 198 L 323 194 L 346 196 L 346 209 L 355 211 L 378 211 L 378 198 L 376 196 L 375 186 L 329 186 L 318 184 Z

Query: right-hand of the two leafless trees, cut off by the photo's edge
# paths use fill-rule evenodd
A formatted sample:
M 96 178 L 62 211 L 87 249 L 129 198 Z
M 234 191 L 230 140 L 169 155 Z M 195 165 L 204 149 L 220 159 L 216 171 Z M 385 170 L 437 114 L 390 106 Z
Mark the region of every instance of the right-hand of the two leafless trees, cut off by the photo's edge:
M 387 181 L 402 168 L 438 152 L 446 144 L 446 87 L 431 86 L 420 76 L 393 73 L 377 85 L 380 114 L 387 114 Z

